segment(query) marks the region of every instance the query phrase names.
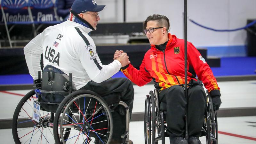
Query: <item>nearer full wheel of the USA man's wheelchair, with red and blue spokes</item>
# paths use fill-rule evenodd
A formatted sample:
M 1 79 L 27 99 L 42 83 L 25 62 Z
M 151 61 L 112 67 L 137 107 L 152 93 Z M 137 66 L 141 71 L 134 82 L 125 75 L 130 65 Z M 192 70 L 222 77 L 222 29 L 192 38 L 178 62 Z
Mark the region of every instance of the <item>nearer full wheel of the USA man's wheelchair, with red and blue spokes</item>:
M 67 118 L 72 121 L 67 121 Z M 64 137 L 64 128 L 70 129 L 68 138 Z M 73 92 L 57 109 L 53 133 L 57 144 L 67 142 L 108 144 L 113 133 L 110 109 L 105 100 L 95 92 L 87 90 Z

